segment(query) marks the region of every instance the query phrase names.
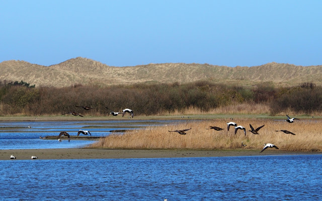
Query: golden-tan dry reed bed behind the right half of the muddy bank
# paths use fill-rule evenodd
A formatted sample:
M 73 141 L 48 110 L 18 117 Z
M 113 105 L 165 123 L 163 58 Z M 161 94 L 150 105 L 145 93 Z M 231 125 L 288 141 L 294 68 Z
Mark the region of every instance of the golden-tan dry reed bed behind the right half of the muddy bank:
M 229 119 L 212 121 L 189 121 L 183 124 L 151 126 L 144 130 L 128 131 L 123 135 L 112 134 L 91 145 L 92 148 L 115 149 L 257 149 L 261 150 L 264 143 L 272 143 L 284 151 L 322 151 L 321 120 L 302 120 L 287 123 L 282 120 L 267 119 L 234 119 L 238 125 L 244 126 L 247 135 L 242 130 L 234 134 L 234 128 L 227 131 Z M 259 135 L 254 135 L 249 124 L 256 129 L 265 125 Z M 222 131 L 207 130 L 209 126 L 223 128 Z M 186 135 L 180 135 L 174 130 L 191 128 Z M 288 130 L 296 135 L 276 132 Z M 241 142 L 246 147 L 241 146 Z

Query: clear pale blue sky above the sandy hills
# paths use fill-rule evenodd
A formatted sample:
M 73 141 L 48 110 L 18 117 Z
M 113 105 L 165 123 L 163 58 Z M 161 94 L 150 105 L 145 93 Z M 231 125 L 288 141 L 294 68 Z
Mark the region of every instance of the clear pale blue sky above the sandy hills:
M 322 1 L 2 1 L 0 62 L 322 65 Z

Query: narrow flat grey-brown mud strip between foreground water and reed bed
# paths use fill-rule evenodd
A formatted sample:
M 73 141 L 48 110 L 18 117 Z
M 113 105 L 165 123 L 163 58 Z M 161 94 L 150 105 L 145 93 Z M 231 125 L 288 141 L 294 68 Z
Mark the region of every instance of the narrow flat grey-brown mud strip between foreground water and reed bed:
M 112 158 L 184 158 L 184 157 L 223 157 L 223 156 L 262 156 L 262 155 L 304 155 L 321 152 L 289 152 L 280 150 L 142 150 L 142 149 L 9 149 L 0 150 L 0 160 L 31 160 L 31 156 L 41 159 L 112 159 Z

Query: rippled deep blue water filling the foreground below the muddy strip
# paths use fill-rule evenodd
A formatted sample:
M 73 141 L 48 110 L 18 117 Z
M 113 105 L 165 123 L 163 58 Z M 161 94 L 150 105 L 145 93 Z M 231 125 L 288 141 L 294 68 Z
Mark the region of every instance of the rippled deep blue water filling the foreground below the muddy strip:
M 321 200 L 322 155 L 0 161 L 6 200 Z

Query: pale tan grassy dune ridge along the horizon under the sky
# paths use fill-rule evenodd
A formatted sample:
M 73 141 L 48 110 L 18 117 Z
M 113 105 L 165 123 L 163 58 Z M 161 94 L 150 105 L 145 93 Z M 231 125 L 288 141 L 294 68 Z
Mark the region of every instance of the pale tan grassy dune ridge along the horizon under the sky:
M 322 65 L 296 66 L 267 63 L 252 67 L 227 67 L 197 63 L 161 63 L 127 67 L 108 66 L 92 59 L 77 57 L 59 64 L 42 66 L 25 61 L 0 63 L 0 80 L 25 81 L 38 86 L 70 86 L 74 84 L 111 85 L 141 82 L 173 83 L 209 80 L 212 82 L 254 85 L 298 85 L 302 82 L 322 84 Z

